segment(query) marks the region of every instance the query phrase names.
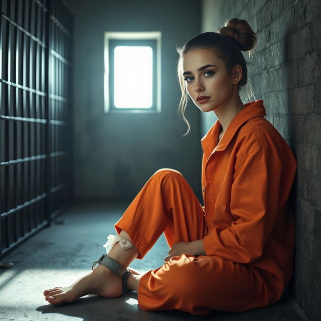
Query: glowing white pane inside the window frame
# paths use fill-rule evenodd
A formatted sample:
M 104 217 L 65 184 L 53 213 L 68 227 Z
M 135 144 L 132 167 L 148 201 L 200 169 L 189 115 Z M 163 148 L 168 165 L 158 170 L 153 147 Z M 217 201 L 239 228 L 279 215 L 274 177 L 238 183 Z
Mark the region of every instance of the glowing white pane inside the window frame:
M 114 49 L 114 105 L 150 108 L 152 105 L 152 48 L 116 46 Z

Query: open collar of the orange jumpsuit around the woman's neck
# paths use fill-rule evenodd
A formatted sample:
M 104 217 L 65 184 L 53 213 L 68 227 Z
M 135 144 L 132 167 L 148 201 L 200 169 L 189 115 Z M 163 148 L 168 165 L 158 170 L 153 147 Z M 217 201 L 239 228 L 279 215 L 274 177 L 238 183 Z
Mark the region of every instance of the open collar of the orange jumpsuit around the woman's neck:
M 207 157 L 215 150 L 224 150 L 231 139 L 233 138 L 237 129 L 250 118 L 253 117 L 264 117 L 266 116 L 266 111 L 263 105 L 263 99 L 254 100 L 244 104 L 246 108 L 238 112 L 235 117 L 231 120 L 228 125 L 226 132 L 224 133 L 222 139 L 217 144 L 219 131 L 221 128 L 221 123 L 217 119 L 208 132 L 201 138 L 201 144 L 204 153 Z

